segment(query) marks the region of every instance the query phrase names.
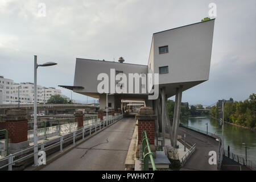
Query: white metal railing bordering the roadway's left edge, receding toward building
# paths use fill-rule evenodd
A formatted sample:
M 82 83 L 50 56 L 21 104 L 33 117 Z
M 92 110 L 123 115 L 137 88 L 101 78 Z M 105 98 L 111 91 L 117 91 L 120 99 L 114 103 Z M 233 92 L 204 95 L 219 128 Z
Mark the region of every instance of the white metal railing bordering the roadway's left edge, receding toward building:
M 84 126 L 80 130 L 76 130 L 76 131 L 73 131 L 72 133 L 61 135 L 60 137 L 57 137 L 57 138 L 54 138 L 54 139 L 51 139 L 51 140 L 47 140 L 46 142 L 37 144 L 37 147 L 40 147 L 40 150 L 38 150 L 37 152 L 33 151 L 33 148 L 35 146 L 31 146 L 31 147 L 28 147 L 28 148 L 26 148 L 22 151 L 18 151 L 18 152 L 15 152 L 14 154 L 10 154 L 10 155 L 0 159 L 0 165 L 1 165 L 1 163 L 7 161 L 7 164 L 3 164 L 2 166 L 0 166 L 0 169 L 8 167 L 8 170 L 12 171 L 13 165 L 16 162 L 19 162 L 20 160 L 27 159 L 30 156 L 34 156 L 34 154 L 38 153 L 39 151 L 45 151 L 47 148 L 52 147 L 52 146 L 56 146 L 57 144 L 60 144 L 60 152 L 62 152 L 63 151 L 63 143 L 64 143 L 65 140 L 73 138 L 73 145 L 75 145 L 77 136 L 82 135 L 82 139 L 84 139 L 86 132 L 89 133 L 88 135 L 92 135 L 92 133 L 97 132 L 97 127 L 100 127 L 100 129 L 103 129 L 104 127 L 107 127 L 110 124 L 112 124 L 114 122 L 117 122 L 121 118 L 123 118 L 123 114 L 115 115 L 114 117 L 108 118 L 108 122 L 106 122 L 106 119 L 103 122 L 96 121 L 96 122 L 94 122 L 94 125 L 90 125 L 89 127 Z M 56 140 L 57 140 L 57 142 L 56 142 Z M 52 142 L 54 142 L 54 143 L 52 143 Z M 47 146 L 47 144 L 48 144 L 48 146 Z M 45 147 L 45 146 L 47 146 L 47 147 Z M 31 152 L 31 153 L 26 155 L 26 156 L 22 156 L 19 159 L 14 160 L 16 157 L 18 157 L 20 155 L 23 155 L 23 154 L 26 154 L 26 152 Z

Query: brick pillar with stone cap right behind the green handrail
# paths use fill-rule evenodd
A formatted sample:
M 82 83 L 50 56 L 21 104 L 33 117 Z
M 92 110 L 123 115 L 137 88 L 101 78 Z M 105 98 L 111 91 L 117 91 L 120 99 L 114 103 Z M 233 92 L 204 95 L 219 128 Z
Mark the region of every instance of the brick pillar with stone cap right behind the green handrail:
M 139 113 L 135 117 L 138 120 L 138 148 L 137 156 L 139 155 L 139 148 L 142 141 L 142 132 L 147 131 L 147 138 L 150 144 L 150 149 L 155 156 L 155 119 L 152 107 L 141 107 Z

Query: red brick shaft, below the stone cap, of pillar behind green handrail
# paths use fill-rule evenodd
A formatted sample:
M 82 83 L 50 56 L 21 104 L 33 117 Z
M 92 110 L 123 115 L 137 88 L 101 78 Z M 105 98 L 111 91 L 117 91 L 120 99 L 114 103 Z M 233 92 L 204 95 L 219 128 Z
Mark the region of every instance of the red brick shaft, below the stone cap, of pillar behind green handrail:
M 147 131 L 147 138 L 150 144 L 155 144 L 155 121 L 154 120 L 138 120 L 138 144 L 141 144 L 142 131 Z

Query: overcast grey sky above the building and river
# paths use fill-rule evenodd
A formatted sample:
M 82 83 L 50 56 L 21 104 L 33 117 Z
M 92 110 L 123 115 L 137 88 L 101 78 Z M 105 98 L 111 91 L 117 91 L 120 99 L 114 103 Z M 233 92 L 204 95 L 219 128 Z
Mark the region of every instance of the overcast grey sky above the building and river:
M 210 105 L 245 100 L 256 90 L 256 1 L 0 0 L 0 75 L 42 86 L 73 85 L 76 57 L 147 65 L 154 32 L 200 22 L 216 3 L 209 81 L 183 93 L 183 102 Z M 46 16 L 38 16 L 39 3 Z M 71 91 L 60 88 L 63 94 Z M 86 96 L 73 93 L 73 99 Z M 90 100 L 90 99 L 89 99 Z

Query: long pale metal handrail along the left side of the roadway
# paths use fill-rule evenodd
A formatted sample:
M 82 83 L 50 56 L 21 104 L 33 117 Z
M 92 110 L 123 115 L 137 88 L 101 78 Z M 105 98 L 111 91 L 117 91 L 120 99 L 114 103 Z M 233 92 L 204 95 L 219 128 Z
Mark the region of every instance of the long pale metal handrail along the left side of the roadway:
M 123 118 L 123 114 L 115 115 L 113 119 L 112 118 L 108 119 L 108 123 L 110 125 L 111 123 L 114 123 L 114 122 L 118 121 L 118 119 L 121 119 L 121 118 Z M 95 122 L 94 126 L 95 127 L 100 126 L 100 128 L 101 128 L 102 124 L 103 124 L 102 122 L 97 122 L 97 123 Z M 105 127 L 108 127 L 108 126 L 105 125 Z M 92 134 L 92 127 L 91 126 L 82 127 L 81 129 L 73 131 L 72 133 L 67 133 L 65 135 L 61 135 L 60 137 L 57 137 L 57 138 L 54 138 L 54 139 L 51 139 L 51 140 L 47 140 L 46 142 L 42 142 L 40 144 L 37 144 L 36 146 L 40 147 L 40 150 L 38 150 L 37 152 L 33 151 L 33 152 L 31 152 L 30 154 L 28 154 L 26 156 L 22 156 L 22 158 L 14 160 L 15 156 L 21 155 L 24 151 L 32 150 L 32 148 L 34 148 L 35 146 L 31 146 L 31 147 L 28 147 L 28 148 L 26 148 L 22 151 L 18 151 L 18 152 L 15 152 L 14 154 L 10 154 L 8 156 L 5 156 L 4 158 L 0 159 L 0 162 L 3 162 L 4 160 L 8 159 L 8 163 L 4 164 L 3 166 L 0 166 L 0 169 L 5 168 L 5 167 L 8 166 L 8 170 L 12 171 L 12 166 L 13 166 L 13 164 L 15 164 L 15 162 L 18 162 L 22 159 L 26 159 L 29 156 L 32 156 L 32 155 L 38 153 L 39 151 L 44 151 L 44 150 L 46 150 L 46 148 L 55 146 L 56 144 L 59 144 L 59 143 L 60 143 L 60 151 L 62 151 L 63 142 L 65 140 L 73 138 L 73 144 L 75 145 L 75 142 L 76 142 L 75 137 L 77 137 L 77 135 L 82 134 L 82 138 L 84 138 L 84 135 L 85 135 L 86 131 L 89 131 L 89 135 L 91 135 Z M 96 132 L 96 130 L 95 130 L 95 132 Z M 68 137 L 68 135 L 71 135 L 71 137 Z M 67 137 L 67 138 L 63 139 L 64 137 Z M 54 141 L 59 140 L 59 142 L 51 143 L 53 140 Z M 44 146 L 46 146 L 47 143 L 50 143 L 50 144 L 47 147 L 44 147 Z

